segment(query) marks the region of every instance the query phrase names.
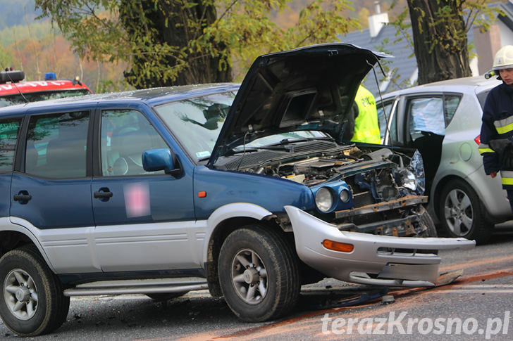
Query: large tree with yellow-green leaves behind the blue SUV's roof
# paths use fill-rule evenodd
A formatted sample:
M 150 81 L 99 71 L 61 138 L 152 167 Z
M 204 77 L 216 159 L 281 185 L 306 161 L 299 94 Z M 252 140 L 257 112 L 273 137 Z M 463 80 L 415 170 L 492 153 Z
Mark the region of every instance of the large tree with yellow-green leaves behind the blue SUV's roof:
M 314 0 L 281 30 L 271 11 L 291 0 L 36 0 L 80 57 L 128 62 L 137 88 L 239 79 L 256 56 L 338 41 L 359 27 L 349 1 Z M 235 69 L 235 71 L 233 71 Z

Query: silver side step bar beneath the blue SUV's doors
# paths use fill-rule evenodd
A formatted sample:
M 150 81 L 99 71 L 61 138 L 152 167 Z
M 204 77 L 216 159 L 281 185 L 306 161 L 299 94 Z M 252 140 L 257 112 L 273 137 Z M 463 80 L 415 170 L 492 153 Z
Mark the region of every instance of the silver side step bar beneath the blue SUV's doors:
M 208 289 L 204 278 L 153 278 L 143 280 L 97 281 L 64 290 L 64 296 L 161 294 Z

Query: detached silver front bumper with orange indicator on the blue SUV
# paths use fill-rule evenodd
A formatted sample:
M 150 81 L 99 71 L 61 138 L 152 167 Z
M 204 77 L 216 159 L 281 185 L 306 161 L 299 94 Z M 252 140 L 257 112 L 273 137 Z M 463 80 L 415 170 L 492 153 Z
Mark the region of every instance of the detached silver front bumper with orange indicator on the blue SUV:
M 340 231 L 294 206 L 285 206 L 292 223 L 297 255 L 326 276 L 341 281 L 387 286 L 433 286 L 440 257 L 418 250 L 469 250 L 465 238 L 412 238 Z M 352 252 L 328 250 L 323 240 L 354 245 Z

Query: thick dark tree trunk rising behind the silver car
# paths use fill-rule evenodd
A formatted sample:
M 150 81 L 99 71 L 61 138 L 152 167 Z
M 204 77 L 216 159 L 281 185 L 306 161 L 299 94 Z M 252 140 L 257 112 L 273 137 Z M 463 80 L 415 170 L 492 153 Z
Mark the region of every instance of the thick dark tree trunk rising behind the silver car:
M 394 0 L 394 6 L 397 4 Z M 489 27 L 487 0 L 407 0 L 419 84 L 471 76 L 467 32 Z M 483 18 L 481 15 L 483 15 Z M 404 30 L 404 12 L 393 22 Z

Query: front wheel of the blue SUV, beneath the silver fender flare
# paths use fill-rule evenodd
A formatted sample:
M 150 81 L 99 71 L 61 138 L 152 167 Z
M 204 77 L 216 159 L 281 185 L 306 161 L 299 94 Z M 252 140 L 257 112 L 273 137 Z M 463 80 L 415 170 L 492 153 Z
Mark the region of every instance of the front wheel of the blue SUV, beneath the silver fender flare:
M 218 268 L 225 302 L 242 321 L 277 319 L 297 304 L 297 257 L 271 228 L 254 224 L 230 233 L 221 246 Z

